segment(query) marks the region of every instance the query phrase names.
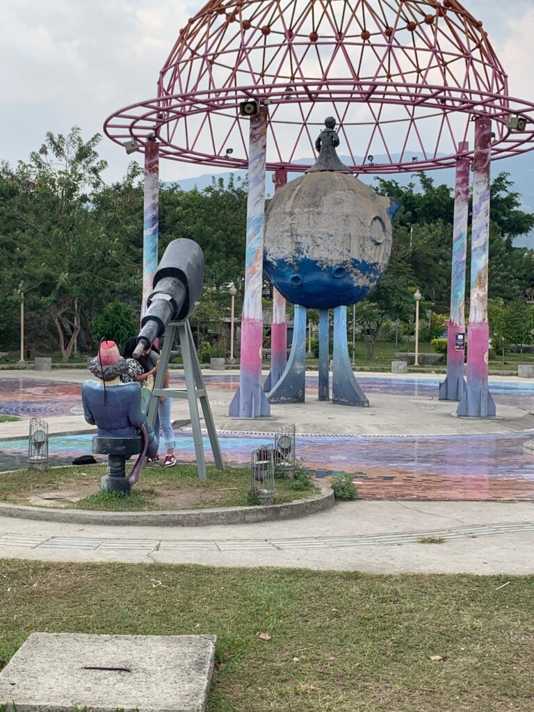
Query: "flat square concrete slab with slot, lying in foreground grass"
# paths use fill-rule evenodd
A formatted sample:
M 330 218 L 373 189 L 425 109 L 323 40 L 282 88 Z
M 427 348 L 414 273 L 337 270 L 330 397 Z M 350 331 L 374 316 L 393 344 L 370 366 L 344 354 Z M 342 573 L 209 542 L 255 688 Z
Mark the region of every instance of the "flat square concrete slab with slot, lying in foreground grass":
M 26 712 L 204 712 L 211 635 L 33 633 L 0 673 L 0 705 Z

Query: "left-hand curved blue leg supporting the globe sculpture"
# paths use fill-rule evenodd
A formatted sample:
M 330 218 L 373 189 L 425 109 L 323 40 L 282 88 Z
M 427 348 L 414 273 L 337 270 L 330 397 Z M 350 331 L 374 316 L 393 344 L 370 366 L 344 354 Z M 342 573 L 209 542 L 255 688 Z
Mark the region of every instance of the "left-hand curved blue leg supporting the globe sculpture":
M 288 365 L 281 379 L 268 394 L 269 403 L 304 403 L 306 390 L 306 314 L 295 304 L 293 343 Z

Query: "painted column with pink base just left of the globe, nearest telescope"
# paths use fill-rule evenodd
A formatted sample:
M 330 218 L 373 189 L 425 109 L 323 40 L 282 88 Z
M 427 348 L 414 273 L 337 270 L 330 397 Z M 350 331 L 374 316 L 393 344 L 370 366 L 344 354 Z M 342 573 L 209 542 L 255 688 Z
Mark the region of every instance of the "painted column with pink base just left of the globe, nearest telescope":
M 248 150 L 248 201 L 243 317 L 241 319 L 241 369 L 239 389 L 229 415 L 258 418 L 271 415 L 271 406 L 261 387 L 263 345 L 263 234 L 265 231 L 265 174 L 267 153 L 267 107 L 251 117 Z

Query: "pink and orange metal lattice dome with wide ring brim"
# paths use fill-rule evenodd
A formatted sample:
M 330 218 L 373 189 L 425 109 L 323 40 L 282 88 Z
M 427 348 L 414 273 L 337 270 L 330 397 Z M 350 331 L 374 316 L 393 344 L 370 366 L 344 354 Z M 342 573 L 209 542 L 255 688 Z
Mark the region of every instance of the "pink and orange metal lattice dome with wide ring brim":
M 328 115 L 357 173 L 451 167 L 481 115 L 493 159 L 534 148 L 534 104 L 508 95 L 482 22 L 456 0 L 210 0 L 180 30 L 157 97 L 105 132 L 141 150 L 156 132 L 162 157 L 246 168 L 247 98 L 269 104 L 269 169 L 303 171 Z M 524 131 L 508 130 L 513 115 Z

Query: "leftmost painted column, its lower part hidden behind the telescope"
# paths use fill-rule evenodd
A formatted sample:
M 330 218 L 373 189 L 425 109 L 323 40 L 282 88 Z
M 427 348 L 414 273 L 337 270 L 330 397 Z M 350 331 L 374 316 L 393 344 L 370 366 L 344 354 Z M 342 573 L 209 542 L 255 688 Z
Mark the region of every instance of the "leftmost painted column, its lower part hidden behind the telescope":
M 145 144 L 145 214 L 143 224 L 143 297 L 142 315 L 157 270 L 157 239 L 159 229 L 159 144 Z

